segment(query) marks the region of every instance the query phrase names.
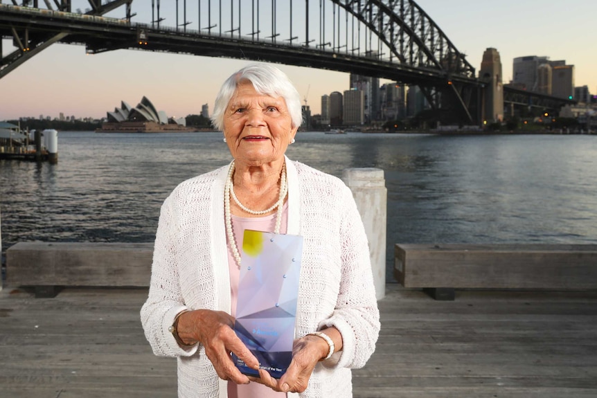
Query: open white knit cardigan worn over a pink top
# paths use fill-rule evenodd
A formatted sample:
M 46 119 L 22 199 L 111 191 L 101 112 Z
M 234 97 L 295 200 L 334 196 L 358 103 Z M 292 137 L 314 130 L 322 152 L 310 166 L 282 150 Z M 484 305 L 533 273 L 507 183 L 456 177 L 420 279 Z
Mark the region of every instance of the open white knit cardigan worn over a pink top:
M 340 179 L 289 159 L 286 165 L 287 233 L 303 236 L 295 336 L 334 326 L 344 345 L 317 364 L 301 398 L 352 397 L 350 368 L 366 363 L 380 330 L 365 230 Z M 224 226 L 228 170 L 184 181 L 161 207 L 141 323 L 154 354 L 177 356 L 180 398 L 227 396 L 227 381 L 217 377 L 204 347 L 179 347 L 168 327 L 183 309 L 230 313 Z

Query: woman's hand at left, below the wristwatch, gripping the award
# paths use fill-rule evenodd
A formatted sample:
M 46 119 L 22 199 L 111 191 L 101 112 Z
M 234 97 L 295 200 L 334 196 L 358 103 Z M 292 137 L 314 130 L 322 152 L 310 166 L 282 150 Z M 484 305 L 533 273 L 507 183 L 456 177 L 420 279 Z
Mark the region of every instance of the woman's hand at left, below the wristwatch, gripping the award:
M 199 341 L 213 364 L 218 377 L 237 384 L 249 383 L 249 377 L 234 365 L 231 352 L 249 368 L 259 369 L 259 362 L 234 332 L 234 318 L 224 311 L 197 309 L 179 317 L 178 335 L 183 343 Z

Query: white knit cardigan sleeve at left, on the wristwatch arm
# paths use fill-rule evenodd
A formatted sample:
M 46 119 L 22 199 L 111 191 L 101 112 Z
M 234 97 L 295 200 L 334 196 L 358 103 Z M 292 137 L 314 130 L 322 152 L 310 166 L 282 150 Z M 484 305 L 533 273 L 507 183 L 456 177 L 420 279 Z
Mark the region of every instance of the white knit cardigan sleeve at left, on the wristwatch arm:
M 197 345 L 179 347 L 168 327 L 175 316 L 186 309 L 179 283 L 177 241 L 179 221 L 175 206 L 176 191 L 161 206 L 154 244 L 152 275 L 148 299 L 141 308 L 141 324 L 155 355 L 190 356 Z

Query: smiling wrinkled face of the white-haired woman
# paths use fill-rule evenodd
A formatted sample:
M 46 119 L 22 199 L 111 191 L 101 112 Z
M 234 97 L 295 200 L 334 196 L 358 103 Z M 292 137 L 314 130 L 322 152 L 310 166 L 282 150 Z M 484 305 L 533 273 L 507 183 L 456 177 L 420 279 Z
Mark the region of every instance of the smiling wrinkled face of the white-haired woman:
M 283 159 L 294 134 L 284 98 L 260 94 L 251 82 L 238 85 L 224 114 L 224 138 L 237 164 Z

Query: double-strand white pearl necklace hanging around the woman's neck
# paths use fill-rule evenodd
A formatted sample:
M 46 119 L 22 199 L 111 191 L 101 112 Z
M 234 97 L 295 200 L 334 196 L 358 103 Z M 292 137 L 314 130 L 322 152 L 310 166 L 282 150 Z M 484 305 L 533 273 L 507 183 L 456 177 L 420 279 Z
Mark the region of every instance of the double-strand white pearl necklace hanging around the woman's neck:
M 233 174 L 234 174 L 234 161 L 232 161 L 232 163 L 230 165 L 230 168 L 228 170 L 228 179 L 226 179 L 226 185 L 224 185 L 224 222 L 226 224 L 226 236 L 228 237 L 228 242 L 229 242 L 230 248 L 232 250 L 232 255 L 234 257 L 234 260 L 236 261 L 238 268 L 240 269 L 240 253 L 238 251 L 238 247 L 236 246 L 236 241 L 234 239 L 234 234 L 232 232 L 232 215 L 230 212 L 230 197 L 232 197 L 232 199 L 234 199 L 236 204 L 238 204 L 238 206 L 240 208 L 242 208 L 242 210 L 244 210 L 250 214 L 253 214 L 253 215 L 265 214 L 267 212 L 270 212 L 271 210 L 274 210 L 274 208 L 278 208 L 278 211 L 276 212 L 276 226 L 274 228 L 274 233 L 280 233 L 280 224 L 282 224 L 282 210 L 284 208 L 284 198 L 286 197 L 286 194 L 288 193 L 288 183 L 286 181 L 286 163 L 284 163 L 282 165 L 282 176 L 280 177 L 280 195 L 278 196 L 278 201 L 274 204 L 274 206 L 271 206 L 267 210 L 255 211 L 255 210 L 250 210 L 249 208 L 242 206 L 240 201 L 238 201 L 238 198 L 234 194 L 234 189 L 233 189 L 233 183 L 232 183 L 232 175 Z

